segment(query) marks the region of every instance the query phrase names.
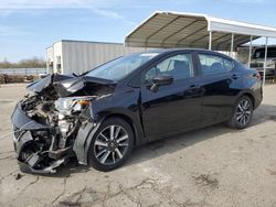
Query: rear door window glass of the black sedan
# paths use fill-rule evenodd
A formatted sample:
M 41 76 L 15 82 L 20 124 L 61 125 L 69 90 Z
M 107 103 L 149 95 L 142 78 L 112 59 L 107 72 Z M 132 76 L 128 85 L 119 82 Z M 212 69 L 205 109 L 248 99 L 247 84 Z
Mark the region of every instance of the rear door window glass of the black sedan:
M 221 74 L 233 69 L 233 63 L 216 55 L 199 54 L 202 75 Z

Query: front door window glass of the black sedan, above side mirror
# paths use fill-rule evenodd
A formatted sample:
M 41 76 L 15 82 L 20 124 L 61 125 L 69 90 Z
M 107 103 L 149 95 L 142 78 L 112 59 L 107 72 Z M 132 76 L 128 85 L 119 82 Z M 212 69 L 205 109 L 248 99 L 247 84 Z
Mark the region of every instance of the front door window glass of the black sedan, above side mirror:
M 151 83 L 152 78 L 157 75 L 171 75 L 174 80 L 193 77 L 191 54 L 179 54 L 163 59 L 146 72 L 145 83 Z

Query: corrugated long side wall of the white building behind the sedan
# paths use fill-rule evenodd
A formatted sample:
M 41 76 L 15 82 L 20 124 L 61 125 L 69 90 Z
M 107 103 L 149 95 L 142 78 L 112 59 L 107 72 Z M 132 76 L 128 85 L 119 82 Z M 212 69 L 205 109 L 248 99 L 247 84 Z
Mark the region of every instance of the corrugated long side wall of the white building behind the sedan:
M 82 74 L 116 57 L 145 51 L 117 43 L 62 41 L 62 73 Z

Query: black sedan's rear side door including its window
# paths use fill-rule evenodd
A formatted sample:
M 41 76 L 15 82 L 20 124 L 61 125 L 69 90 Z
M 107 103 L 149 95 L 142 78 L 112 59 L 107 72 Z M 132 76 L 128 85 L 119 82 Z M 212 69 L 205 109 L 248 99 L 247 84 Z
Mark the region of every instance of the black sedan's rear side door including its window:
M 234 63 L 213 53 L 199 53 L 202 83 L 202 123 L 209 126 L 227 120 L 233 101 L 237 77 L 233 74 Z

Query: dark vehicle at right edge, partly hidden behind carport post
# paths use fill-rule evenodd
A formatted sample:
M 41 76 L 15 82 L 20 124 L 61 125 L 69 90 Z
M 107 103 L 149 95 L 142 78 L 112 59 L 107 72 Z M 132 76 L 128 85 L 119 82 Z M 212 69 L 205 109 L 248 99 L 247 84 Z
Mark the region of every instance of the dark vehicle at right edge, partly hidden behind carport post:
M 257 47 L 253 52 L 251 67 L 255 68 L 261 77 L 264 74 L 264 63 L 265 63 L 265 47 Z M 275 78 L 275 64 L 276 64 L 276 46 L 267 47 L 267 59 L 265 66 L 265 77 L 266 79 Z

